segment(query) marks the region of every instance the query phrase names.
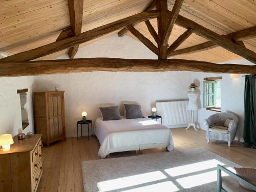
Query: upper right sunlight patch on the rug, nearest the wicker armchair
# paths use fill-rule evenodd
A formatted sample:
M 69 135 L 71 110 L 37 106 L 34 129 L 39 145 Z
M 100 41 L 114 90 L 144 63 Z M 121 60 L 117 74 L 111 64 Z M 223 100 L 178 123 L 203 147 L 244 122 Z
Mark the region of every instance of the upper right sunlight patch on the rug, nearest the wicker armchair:
M 169 176 L 176 177 L 176 176 L 185 175 L 185 174 L 189 174 L 189 173 L 199 172 L 200 170 L 214 168 L 214 167 L 217 167 L 218 164 L 224 165 L 222 162 L 220 162 L 216 159 L 211 159 L 208 161 L 202 161 L 202 162 L 198 162 L 198 163 L 164 169 L 164 171 Z

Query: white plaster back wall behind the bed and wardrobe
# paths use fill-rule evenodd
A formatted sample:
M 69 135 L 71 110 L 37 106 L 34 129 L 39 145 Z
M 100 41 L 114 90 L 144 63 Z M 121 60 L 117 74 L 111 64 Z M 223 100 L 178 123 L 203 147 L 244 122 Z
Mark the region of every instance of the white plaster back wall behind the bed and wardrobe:
M 140 42 L 117 35 L 79 49 L 76 58 L 84 57 L 157 58 Z M 62 58 L 68 57 L 58 59 Z M 115 103 L 123 113 L 121 101 L 128 100 L 139 102 L 148 115 L 156 100 L 186 99 L 189 83 L 188 72 L 90 72 L 37 76 L 33 91 L 50 91 L 55 86 L 65 90 L 66 133 L 67 137 L 74 137 L 82 111 L 87 111 L 88 119 L 95 120 L 100 116 L 100 104 Z

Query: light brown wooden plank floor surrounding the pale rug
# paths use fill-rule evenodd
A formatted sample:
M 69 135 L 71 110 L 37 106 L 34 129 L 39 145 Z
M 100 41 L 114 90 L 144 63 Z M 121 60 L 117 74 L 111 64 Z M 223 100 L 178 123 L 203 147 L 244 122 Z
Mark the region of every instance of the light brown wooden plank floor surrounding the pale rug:
M 234 163 L 244 167 L 256 168 L 256 152 L 251 148 L 243 147 L 238 141 L 231 143 L 211 140 L 206 142 L 204 130 L 194 131 L 172 129 L 175 149 L 204 147 Z M 100 159 L 98 156 L 99 142 L 96 137 L 67 138 L 66 141 L 53 143 L 50 147 L 42 148 L 42 163 L 44 172 L 37 191 L 62 192 L 83 191 L 81 161 Z M 165 152 L 165 148 L 143 150 L 142 154 Z M 134 156 L 135 151 L 111 154 L 109 158 Z

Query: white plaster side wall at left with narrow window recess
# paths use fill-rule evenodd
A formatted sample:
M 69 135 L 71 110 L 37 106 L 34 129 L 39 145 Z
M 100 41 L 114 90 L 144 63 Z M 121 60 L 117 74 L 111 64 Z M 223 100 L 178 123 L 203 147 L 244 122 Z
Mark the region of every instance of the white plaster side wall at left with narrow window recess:
M 33 77 L 8 77 L 0 78 L 0 135 L 10 133 L 17 135 L 18 129 L 22 128 L 22 112 L 20 109 L 20 98 L 18 89 L 26 89 L 29 126 L 24 133 L 33 132 L 33 109 L 32 89 Z

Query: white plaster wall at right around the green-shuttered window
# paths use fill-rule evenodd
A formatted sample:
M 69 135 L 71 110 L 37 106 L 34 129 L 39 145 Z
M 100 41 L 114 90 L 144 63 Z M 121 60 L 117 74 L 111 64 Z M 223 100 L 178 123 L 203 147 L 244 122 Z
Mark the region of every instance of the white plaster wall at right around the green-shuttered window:
M 229 61 L 224 63 L 237 63 L 243 65 L 253 65 L 253 63 L 243 59 Z M 230 74 L 212 74 L 212 73 L 191 73 L 191 81 L 195 82 L 200 89 L 200 110 L 198 111 L 198 126 L 205 130 L 204 119 L 217 112 L 209 111 L 203 108 L 203 79 L 204 77 L 222 76 L 221 80 L 221 111 L 233 112 L 239 117 L 238 132 L 236 140 L 243 141 L 243 113 L 244 113 L 244 81 L 245 78 L 240 74 L 238 79 L 231 79 Z

